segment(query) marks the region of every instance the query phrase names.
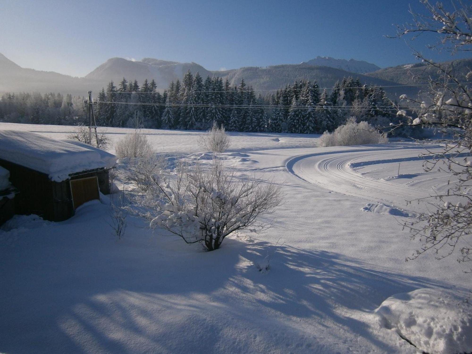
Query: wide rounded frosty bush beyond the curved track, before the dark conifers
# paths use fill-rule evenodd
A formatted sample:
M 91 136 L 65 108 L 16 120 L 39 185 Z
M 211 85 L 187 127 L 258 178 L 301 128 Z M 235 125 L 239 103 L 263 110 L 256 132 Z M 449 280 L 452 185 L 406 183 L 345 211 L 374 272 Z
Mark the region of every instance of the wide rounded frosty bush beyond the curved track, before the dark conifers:
M 325 132 L 318 140 L 318 146 L 346 146 L 386 143 L 388 140 L 367 122 L 356 123 L 355 118 L 347 119 L 332 133 Z

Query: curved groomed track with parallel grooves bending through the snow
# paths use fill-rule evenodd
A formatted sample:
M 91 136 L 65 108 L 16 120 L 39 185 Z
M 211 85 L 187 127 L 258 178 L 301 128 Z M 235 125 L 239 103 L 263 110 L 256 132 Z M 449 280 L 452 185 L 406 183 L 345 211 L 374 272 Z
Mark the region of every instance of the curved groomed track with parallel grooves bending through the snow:
M 382 156 L 411 156 L 413 159 L 421 149 L 401 144 L 346 147 L 297 156 L 288 160 L 286 166 L 296 177 L 331 191 L 405 207 L 405 200 L 427 197 L 432 190 L 366 177 L 356 173 L 349 165 L 359 160 L 381 160 Z M 413 208 L 416 209 L 416 204 Z

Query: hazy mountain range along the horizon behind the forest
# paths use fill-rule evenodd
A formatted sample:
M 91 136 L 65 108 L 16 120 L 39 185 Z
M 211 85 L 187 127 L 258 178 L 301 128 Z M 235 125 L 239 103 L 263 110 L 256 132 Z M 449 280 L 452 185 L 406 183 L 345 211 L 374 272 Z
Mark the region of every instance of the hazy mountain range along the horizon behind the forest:
M 319 61 L 329 61 L 331 66 L 313 65 Z M 51 71 L 38 71 L 18 66 L 13 61 L 0 54 L 0 93 L 4 92 L 61 92 L 72 93 L 73 95 L 84 96 L 87 91 L 92 90 L 94 94 L 98 93 L 102 87 L 106 87 L 110 80 L 116 85 L 119 81 L 126 79 L 136 79 L 142 84 L 144 79 L 154 79 L 158 89 L 163 91 L 169 86 L 171 81 L 182 80 L 187 70 L 192 73 L 199 72 L 203 79 L 210 75 L 228 77 L 233 85 L 237 85 L 244 78 L 246 84 L 253 86 L 254 90 L 261 93 L 269 93 L 270 90 L 277 90 L 286 84 L 293 84 L 295 80 L 318 81 L 321 88 L 332 87 L 336 81 L 343 77 L 352 76 L 358 78 L 362 84 L 380 85 L 385 88 L 390 98 L 395 99 L 399 94 L 409 94 L 412 97 L 418 93 L 418 87 L 388 87 L 401 84 L 415 84 L 418 81 L 411 78 L 411 75 L 434 76 L 435 73 L 429 67 L 422 64 L 407 64 L 397 67 L 388 67 L 377 69 L 371 73 L 360 73 L 347 71 L 332 67 L 338 63 L 350 65 L 351 70 L 368 70 L 375 67 L 364 61 L 332 59 L 329 57 L 317 57 L 306 63 L 275 65 L 270 67 L 241 67 L 226 71 L 210 71 L 196 63 L 179 63 L 176 61 L 144 58 L 141 61 L 127 60 L 123 58 L 111 58 L 95 68 L 84 77 L 72 77 L 58 74 Z M 346 64 L 344 63 L 344 64 Z M 346 65 L 347 65 L 346 64 Z M 447 65 L 453 65 L 460 75 L 464 77 L 472 68 L 472 59 L 455 60 L 447 62 Z

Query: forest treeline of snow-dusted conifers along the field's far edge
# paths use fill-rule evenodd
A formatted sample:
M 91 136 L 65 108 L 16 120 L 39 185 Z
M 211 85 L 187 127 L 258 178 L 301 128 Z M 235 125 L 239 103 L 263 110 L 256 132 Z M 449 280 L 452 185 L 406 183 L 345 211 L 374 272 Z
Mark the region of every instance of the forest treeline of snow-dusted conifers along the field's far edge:
M 216 122 L 228 131 L 321 134 L 348 117 L 386 123 L 396 109 L 379 86 L 366 86 L 352 77 L 321 90 L 316 82 L 292 85 L 256 95 L 244 79 L 231 85 L 228 78 L 187 71 L 163 93 L 154 80 L 139 83 L 110 81 L 96 96 L 98 126 L 205 130 Z M 84 97 L 60 93 L 5 93 L 0 99 L 0 121 L 30 124 L 88 125 Z

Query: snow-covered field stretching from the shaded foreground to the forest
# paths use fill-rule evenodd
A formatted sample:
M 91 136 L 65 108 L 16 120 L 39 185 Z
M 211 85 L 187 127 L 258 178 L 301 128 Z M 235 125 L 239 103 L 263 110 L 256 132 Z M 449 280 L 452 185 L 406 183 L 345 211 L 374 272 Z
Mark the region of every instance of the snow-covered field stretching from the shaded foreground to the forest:
M 0 129 L 65 139 L 74 127 Z M 132 130 L 107 131 L 116 143 Z M 205 158 L 202 132 L 143 133 L 157 152 Z M 472 352 L 470 274 L 454 257 L 405 262 L 420 243 L 402 220 L 424 208 L 405 200 L 448 177 L 421 169 L 421 146 L 231 136 L 238 172 L 282 186 L 275 228 L 205 253 L 131 216 L 118 240 L 108 197 L 63 222 L 15 217 L 0 231 L 0 353 Z

